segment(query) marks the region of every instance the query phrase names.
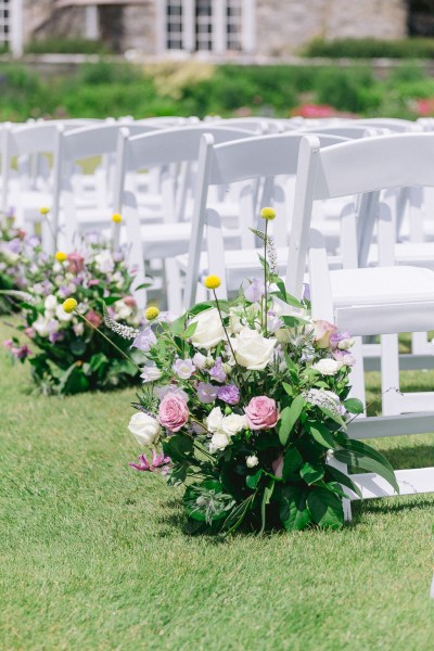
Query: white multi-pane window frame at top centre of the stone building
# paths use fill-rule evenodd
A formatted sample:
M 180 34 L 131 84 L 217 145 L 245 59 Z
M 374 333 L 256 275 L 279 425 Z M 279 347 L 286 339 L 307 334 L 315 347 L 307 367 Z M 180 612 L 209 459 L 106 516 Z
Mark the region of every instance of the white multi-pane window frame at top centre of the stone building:
M 230 1 L 230 0 L 229 0 Z M 181 0 L 182 2 L 182 48 L 181 50 L 167 48 L 167 0 L 157 0 L 157 53 L 167 54 L 176 52 L 193 53 L 196 51 L 196 21 L 195 0 Z M 225 54 L 228 51 L 227 42 L 227 3 L 228 0 L 213 0 L 213 33 L 212 50 L 201 50 L 209 54 Z M 241 0 L 241 33 L 240 53 L 254 53 L 255 51 L 255 21 L 256 0 Z

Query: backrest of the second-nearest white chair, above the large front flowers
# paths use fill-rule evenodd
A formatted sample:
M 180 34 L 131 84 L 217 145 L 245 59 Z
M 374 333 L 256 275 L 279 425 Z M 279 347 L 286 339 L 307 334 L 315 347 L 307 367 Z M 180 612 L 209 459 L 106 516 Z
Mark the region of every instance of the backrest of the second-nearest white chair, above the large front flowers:
M 209 135 L 203 137 L 189 248 L 189 268 L 186 278 L 186 307 L 190 307 L 195 298 L 208 188 L 245 180 L 294 176 L 297 171 L 298 150 L 303 140 L 302 133 L 294 132 L 247 138 L 225 144 L 215 144 Z M 320 144 L 328 146 L 336 142 L 342 143 L 345 142 L 345 139 L 321 136 L 316 139 L 316 142 L 319 148 Z M 253 213 L 256 206 L 253 193 L 253 188 L 250 189 L 250 196 L 243 193 L 243 199 L 248 200 L 250 203 L 250 207 L 246 206 L 243 215 L 244 227 L 255 225 Z M 275 201 L 277 201 L 276 197 Z M 284 203 L 284 197 L 280 196 L 280 201 Z M 242 212 L 244 213 L 244 210 Z M 284 228 L 286 229 L 286 224 L 284 224 Z

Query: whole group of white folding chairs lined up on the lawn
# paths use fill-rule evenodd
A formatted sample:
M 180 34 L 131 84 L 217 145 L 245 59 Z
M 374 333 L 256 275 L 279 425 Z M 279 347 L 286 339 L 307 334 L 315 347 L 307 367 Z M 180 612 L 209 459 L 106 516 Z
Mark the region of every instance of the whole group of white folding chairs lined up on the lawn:
M 38 205 L 50 206 L 48 248 L 72 247 L 77 232 L 107 229 L 111 214 L 120 213 L 123 222 L 111 227 L 112 237 L 115 245 L 129 246 L 137 285 L 163 260 L 168 304 L 179 311 L 203 292 L 200 281 L 207 272 L 222 278 L 221 296 L 259 273 L 250 228 L 257 226 L 261 205 L 273 205 L 278 264 L 288 290 L 299 297 L 307 280 L 314 316 L 357 336 L 359 363 L 352 380 L 358 397 L 365 392 L 363 352 L 365 361 L 367 350 L 380 356 L 383 417 L 358 419 L 352 435 L 429 429 L 431 392 L 387 391 L 399 387 L 398 333 L 420 333 L 414 343 L 421 365 L 431 354 L 423 334 L 434 314 L 434 244 L 424 215 L 434 187 L 429 123 L 126 119 L 76 127 L 0 131 L 2 145 L 9 143 L 9 150 L 1 148 L 3 196 L 13 188 L 5 174 L 9 161 L 27 156 L 29 196 L 35 201 L 31 192 L 39 193 L 44 201 L 34 204 L 33 215 L 31 206 L 23 209 L 20 218 L 35 219 Z M 52 156 L 51 173 L 38 175 L 35 161 L 43 153 Z M 77 174 L 77 162 L 92 156 L 102 166 L 90 182 L 90 175 Z M 418 241 L 423 238 L 426 242 Z M 137 296 L 144 305 L 145 290 Z M 381 353 L 376 344 L 363 345 L 362 337 L 379 334 Z M 401 471 L 401 492 L 434 490 L 432 471 Z M 387 494 L 376 475 L 356 481 L 366 496 Z

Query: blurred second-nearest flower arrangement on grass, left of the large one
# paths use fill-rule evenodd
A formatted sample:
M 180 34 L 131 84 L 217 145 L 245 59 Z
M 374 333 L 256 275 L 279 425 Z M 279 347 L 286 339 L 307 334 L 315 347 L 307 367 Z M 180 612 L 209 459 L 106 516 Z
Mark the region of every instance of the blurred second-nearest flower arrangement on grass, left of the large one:
M 31 353 L 15 337 L 5 345 L 15 358 L 28 359 L 43 393 L 67 395 L 139 381 L 140 369 L 125 353 L 128 343 L 116 344 L 116 335 L 104 324 L 105 309 L 107 320 L 130 329 L 141 326 L 132 280 L 125 252 L 113 252 L 92 238 L 82 241 L 79 251 L 59 251 L 28 271 L 20 329 L 38 352 Z M 63 309 L 65 299 L 74 301 L 77 314 Z

